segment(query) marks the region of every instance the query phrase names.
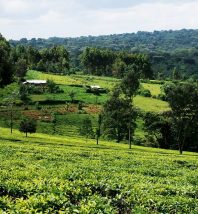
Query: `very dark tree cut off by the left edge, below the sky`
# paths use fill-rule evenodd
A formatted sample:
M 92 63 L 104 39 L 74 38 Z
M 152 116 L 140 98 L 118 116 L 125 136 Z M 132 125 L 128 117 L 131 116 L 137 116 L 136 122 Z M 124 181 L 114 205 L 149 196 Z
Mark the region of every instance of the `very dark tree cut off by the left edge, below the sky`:
M 13 80 L 13 65 L 10 60 L 11 47 L 6 39 L 0 34 L 0 87 Z

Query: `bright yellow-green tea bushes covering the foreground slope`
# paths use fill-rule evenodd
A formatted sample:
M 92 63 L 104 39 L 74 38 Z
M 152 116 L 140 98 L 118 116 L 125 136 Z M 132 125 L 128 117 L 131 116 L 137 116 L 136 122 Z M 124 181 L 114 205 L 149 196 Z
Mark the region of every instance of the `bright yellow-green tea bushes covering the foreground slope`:
M 0 133 L 0 213 L 198 213 L 195 153 Z

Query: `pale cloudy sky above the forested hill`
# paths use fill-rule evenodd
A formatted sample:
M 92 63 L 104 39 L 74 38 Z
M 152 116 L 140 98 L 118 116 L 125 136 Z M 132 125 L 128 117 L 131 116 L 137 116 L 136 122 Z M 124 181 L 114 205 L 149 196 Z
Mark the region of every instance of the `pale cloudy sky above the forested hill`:
M 198 0 L 0 0 L 7 39 L 198 29 Z

